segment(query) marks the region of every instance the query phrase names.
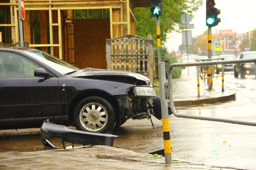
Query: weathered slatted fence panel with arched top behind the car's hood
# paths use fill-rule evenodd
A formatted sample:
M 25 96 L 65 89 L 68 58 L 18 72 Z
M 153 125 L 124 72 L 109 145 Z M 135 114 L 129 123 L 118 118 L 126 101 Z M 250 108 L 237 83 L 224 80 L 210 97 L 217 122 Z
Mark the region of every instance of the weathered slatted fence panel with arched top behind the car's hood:
M 153 83 L 153 40 L 134 35 L 107 39 L 107 69 L 136 72 Z

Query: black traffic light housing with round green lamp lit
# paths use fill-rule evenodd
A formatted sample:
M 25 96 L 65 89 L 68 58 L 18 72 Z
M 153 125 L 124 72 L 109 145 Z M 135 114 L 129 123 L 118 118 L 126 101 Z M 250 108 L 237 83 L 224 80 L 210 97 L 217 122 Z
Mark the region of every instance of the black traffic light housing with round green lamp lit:
M 220 22 L 220 18 L 217 16 L 220 14 L 220 10 L 214 7 L 214 0 L 206 0 L 206 26 L 214 27 Z

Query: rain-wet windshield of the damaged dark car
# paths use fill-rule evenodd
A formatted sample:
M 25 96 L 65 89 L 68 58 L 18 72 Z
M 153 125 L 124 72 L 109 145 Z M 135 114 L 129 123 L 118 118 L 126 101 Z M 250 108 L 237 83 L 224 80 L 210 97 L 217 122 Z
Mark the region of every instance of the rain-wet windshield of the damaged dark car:
M 39 59 L 43 63 L 47 64 L 48 66 L 55 69 L 57 72 L 65 75 L 70 72 L 79 71 L 79 69 L 76 66 L 73 66 L 70 63 L 67 63 L 55 56 L 52 56 L 48 53 L 45 53 L 43 51 L 25 51 L 28 55 L 34 56 L 36 59 Z

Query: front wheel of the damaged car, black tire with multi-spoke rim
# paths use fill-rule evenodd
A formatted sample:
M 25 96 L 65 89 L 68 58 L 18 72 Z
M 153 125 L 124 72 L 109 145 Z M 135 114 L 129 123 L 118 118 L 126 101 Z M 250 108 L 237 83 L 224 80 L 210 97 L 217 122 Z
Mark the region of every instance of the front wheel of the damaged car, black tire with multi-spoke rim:
M 107 100 L 91 96 L 77 104 L 73 120 L 78 130 L 109 133 L 115 126 L 115 112 Z

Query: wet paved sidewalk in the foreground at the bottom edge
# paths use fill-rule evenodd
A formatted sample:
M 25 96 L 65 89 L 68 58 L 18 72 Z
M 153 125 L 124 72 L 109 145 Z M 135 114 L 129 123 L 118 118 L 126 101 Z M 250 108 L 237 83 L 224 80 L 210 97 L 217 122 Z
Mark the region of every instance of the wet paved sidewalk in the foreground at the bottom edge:
M 78 149 L 54 149 L 35 152 L 1 153 L 3 170 L 235 170 L 235 168 L 200 165 L 182 160 L 165 164 L 161 156 L 138 154 L 109 146 Z

